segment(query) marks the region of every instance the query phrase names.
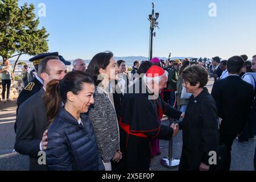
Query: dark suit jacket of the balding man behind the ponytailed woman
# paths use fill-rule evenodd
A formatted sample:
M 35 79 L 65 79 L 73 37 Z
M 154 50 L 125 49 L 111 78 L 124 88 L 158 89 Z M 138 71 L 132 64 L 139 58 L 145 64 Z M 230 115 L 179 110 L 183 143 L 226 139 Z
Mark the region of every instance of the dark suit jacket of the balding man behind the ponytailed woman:
M 15 151 L 30 156 L 30 170 L 46 170 L 38 164 L 38 152 L 44 131 L 47 129 L 46 109 L 43 104 L 44 89 L 30 97 L 19 107 L 16 118 Z

